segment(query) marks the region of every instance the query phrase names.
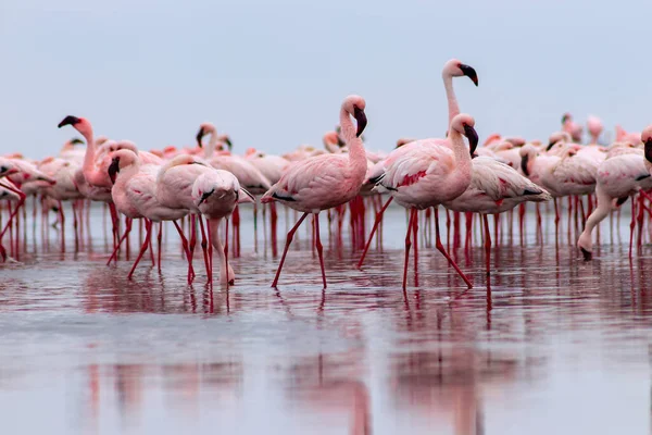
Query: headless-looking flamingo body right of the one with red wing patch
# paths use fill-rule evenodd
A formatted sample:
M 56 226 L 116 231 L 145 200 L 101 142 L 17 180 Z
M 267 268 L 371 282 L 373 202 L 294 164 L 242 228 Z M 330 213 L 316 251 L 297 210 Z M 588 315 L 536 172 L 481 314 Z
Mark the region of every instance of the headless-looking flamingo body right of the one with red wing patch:
M 546 189 L 521 175 L 515 169 L 487 157 L 472 160 L 473 176 L 464 194 L 444 202 L 453 211 L 480 213 L 485 226 L 487 275 L 491 268 L 491 235 L 487 214 L 512 210 L 526 201 L 542 202 L 552 199 Z

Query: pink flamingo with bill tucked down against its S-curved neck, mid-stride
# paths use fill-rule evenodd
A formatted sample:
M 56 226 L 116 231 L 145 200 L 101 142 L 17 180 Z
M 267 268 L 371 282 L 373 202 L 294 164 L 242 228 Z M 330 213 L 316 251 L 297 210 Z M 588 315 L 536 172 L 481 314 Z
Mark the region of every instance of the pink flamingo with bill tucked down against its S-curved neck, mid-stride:
M 309 213 L 313 213 L 314 233 L 322 281 L 326 288 L 323 247 L 319 239 L 319 211 L 344 204 L 359 194 L 367 170 L 367 160 L 360 135 L 366 127 L 365 101 L 356 95 L 348 96 L 340 110 L 342 136 L 349 147 L 348 154 L 324 154 L 299 161 L 290 166 L 263 196 L 262 202 L 280 201 L 303 212 L 297 224 L 288 233 L 283 257 L 272 287 L 276 288 L 283 264 L 299 225 Z M 358 128 L 350 116 L 355 117 Z

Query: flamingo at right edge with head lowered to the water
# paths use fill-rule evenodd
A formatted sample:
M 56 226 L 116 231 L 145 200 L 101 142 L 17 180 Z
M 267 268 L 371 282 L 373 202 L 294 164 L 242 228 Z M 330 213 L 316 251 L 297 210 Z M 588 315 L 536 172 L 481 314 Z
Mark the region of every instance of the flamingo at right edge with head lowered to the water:
M 631 197 L 631 223 L 629 225 L 629 258 L 631 258 L 631 246 L 634 241 L 634 226 L 636 217 L 636 202 L 634 196 L 652 189 L 652 125 L 641 133 L 641 141 L 644 151 L 632 149 L 632 152 L 617 154 L 606 159 L 598 169 L 598 185 L 595 196 L 598 206 L 587 219 L 584 232 L 577 240 L 577 247 L 584 259 L 589 261 L 593 257 L 593 240 L 591 234 L 593 228 L 606 217 L 614 209 L 622 206 L 628 197 Z

